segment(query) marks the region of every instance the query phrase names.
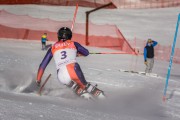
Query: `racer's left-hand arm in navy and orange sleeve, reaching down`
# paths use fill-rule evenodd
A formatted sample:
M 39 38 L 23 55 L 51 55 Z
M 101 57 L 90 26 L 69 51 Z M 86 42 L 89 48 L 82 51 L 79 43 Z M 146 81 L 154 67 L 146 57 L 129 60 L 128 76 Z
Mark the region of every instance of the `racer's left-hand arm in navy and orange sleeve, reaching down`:
M 46 69 L 46 66 L 51 61 L 53 55 L 51 52 L 51 48 L 47 51 L 44 59 L 42 60 L 41 64 L 39 65 L 38 73 L 37 73 L 37 81 L 41 82 L 42 75 L 44 73 L 44 70 Z

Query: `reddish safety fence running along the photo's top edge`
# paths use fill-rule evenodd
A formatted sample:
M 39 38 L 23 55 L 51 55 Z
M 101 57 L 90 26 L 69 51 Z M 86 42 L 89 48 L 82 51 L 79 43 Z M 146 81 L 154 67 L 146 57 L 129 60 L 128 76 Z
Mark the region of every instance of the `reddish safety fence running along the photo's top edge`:
M 0 4 L 45 4 L 99 7 L 112 2 L 108 8 L 164 8 L 180 6 L 180 0 L 0 0 Z

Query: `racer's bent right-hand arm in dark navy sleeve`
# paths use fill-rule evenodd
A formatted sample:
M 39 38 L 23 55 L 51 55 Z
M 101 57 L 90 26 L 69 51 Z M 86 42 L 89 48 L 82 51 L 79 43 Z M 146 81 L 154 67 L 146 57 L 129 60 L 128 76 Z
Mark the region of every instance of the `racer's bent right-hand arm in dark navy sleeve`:
M 77 52 L 79 54 L 82 54 L 84 56 L 88 56 L 89 55 L 89 51 L 86 48 L 84 48 L 82 45 L 80 45 L 77 42 L 74 42 L 74 45 L 76 46 Z

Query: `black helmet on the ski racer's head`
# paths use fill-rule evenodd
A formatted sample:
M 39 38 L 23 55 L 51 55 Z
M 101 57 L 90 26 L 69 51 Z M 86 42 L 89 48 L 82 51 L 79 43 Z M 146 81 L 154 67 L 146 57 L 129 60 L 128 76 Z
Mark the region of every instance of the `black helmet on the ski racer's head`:
M 58 30 L 58 40 L 70 40 L 72 38 L 72 31 L 68 27 L 62 27 Z

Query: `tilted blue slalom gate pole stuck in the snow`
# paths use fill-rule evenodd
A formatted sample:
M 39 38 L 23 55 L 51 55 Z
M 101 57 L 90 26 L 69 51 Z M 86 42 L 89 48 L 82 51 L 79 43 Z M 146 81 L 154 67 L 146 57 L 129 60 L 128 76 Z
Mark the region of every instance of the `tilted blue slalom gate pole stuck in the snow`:
M 172 50 L 171 50 L 169 68 L 168 68 L 168 72 L 167 72 L 167 76 L 166 76 L 166 84 L 165 84 L 165 88 L 164 88 L 163 101 L 166 101 L 166 91 L 167 91 L 169 77 L 170 77 L 170 73 L 171 73 L 171 66 L 172 66 L 172 61 L 173 61 L 173 56 L 174 56 L 174 49 L 175 49 L 175 45 L 176 45 L 177 33 L 178 33 L 178 29 L 179 29 L 179 22 L 180 22 L 180 14 L 178 15 L 178 20 L 177 20 L 177 24 L 176 24 L 176 32 L 174 35 L 174 42 L 173 42 L 173 46 L 172 46 Z

